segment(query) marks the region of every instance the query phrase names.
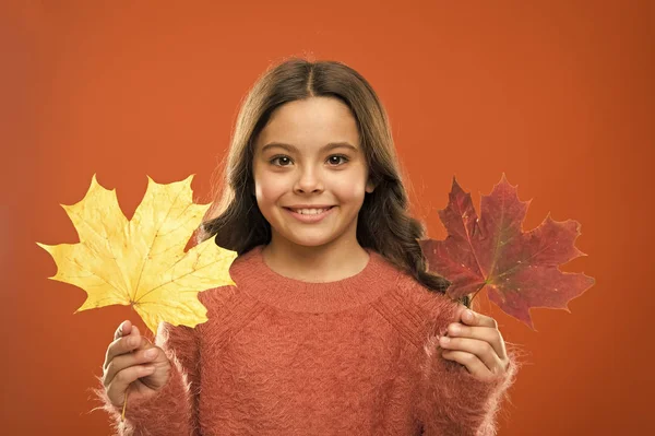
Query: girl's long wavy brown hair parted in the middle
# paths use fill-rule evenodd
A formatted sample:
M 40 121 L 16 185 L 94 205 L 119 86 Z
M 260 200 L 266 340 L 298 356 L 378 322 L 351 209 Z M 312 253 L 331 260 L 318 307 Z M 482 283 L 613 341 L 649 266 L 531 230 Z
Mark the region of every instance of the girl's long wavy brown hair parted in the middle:
M 241 255 L 271 240 L 271 225 L 253 195 L 253 144 L 271 115 L 285 103 L 326 96 L 346 104 L 357 121 L 369 177 L 357 220 L 357 240 L 410 273 L 429 290 L 444 293 L 450 282 L 427 271 L 418 244 L 421 223 L 409 215 L 408 199 L 384 107 L 357 71 L 337 61 L 290 58 L 265 71 L 250 90 L 237 116 L 219 201 L 207 211 L 198 240 L 216 235 L 216 244 Z M 217 197 L 216 193 L 213 195 Z M 461 299 L 471 307 L 469 296 Z

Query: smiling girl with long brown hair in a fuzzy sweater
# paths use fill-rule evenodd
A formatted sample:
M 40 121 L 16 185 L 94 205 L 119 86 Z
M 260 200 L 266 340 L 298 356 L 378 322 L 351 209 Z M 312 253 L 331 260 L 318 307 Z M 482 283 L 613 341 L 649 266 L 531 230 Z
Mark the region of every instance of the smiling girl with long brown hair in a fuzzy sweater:
M 97 393 L 121 435 L 492 435 L 516 373 L 497 322 L 426 271 L 386 114 L 340 62 L 243 102 L 200 240 L 239 257 L 209 321 L 123 321 Z M 463 304 L 462 304 L 463 303 Z M 129 387 L 129 405 L 121 417 Z

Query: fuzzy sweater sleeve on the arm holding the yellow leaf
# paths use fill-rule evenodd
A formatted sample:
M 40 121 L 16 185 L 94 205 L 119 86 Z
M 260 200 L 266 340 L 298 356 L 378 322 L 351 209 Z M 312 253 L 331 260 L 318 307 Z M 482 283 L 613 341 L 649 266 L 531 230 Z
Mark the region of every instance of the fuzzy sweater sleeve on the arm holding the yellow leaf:
M 122 406 L 109 401 L 105 388 L 94 389 L 103 402 L 102 409 L 109 413 L 116 435 L 119 436 L 195 436 L 200 435 L 198 423 L 198 392 L 200 385 L 199 340 L 196 329 L 160 322 L 155 344 L 168 356 L 170 374 L 168 381 L 154 397 L 131 399 L 128 392 L 126 420 Z

